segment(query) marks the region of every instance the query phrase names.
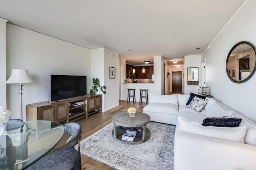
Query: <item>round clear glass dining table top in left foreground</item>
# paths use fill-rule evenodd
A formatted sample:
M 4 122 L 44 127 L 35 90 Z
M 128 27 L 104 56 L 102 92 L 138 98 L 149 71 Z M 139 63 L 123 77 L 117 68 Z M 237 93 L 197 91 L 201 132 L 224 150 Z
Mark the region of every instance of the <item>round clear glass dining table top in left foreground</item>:
M 4 124 L 0 137 L 0 169 L 25 169 L 52 150 L 64 128 L 54 121 L 22 121 Z

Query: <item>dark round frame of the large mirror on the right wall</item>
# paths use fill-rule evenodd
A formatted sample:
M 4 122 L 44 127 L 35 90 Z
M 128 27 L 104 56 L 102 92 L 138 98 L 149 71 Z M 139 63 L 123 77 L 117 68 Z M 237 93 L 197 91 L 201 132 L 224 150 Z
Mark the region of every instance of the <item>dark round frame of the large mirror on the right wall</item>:
M 232 47 L 232 49 L 229 51 L 228 57 L 227 57 L 227 59 L 226 59 L 226 73 L 227 73 L 227 75 L 228 75 L 228 78 L 229 78 L 232 82 L 234 82 L 234 83 L 243 83 L 243 82 L 248 81 L 250 78 L 252 78 L 252 76 L 253 76 L 253 74 L 254 74 L 254 72 L 255 72 L 255 70 L 256 70 L 256 62 L 255 62 L 254 68 L 253 68 L 253 70 L 252 70 L 252 73 L 251 73 L 247 78 L 245 78 L 245 79 L 239 81 L 239 80 L 233 79 L 233 78 L 230 76 L 229 71 L 228 71 L 228 61 L 229 61 L 229 57 L 230 57 L 230 55 L 232 54 L 232 52 L 234 51 L 234 49 L 236 49 L 236 47 L 238 47 L 238 46 L 241 45 L 241 44 L 247 44 L 247 45 L 249 45 L 249 46 L 254 50 L 254 54 L 255 54 L 255 57 L 256 57 L 255 47 L 254 47 L 254 45 L 253 45 L 252 43 L 250 43 L 250 42 L 248 42 L 248 41 L 240 41 L 239 43 L 236 43 L 236 45 L 234 45 L 234 46 Z

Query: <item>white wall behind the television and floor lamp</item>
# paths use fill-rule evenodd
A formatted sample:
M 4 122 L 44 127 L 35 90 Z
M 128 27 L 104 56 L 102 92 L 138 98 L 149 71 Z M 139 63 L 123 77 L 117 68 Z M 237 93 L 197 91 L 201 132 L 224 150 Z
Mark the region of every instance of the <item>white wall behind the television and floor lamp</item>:
M 87 76 L 91 79 L 90 49 L 80 47 L 16 25 L 6 25 L 6 79 L 12 69 L 28 69 L 35 83 L 25 84 L 23 118 L 26 104 L 48 101 L 50 75 Z M 7 107 L 12 118 L 20 118 L 20 95 L 16 84 L 7 84 Z

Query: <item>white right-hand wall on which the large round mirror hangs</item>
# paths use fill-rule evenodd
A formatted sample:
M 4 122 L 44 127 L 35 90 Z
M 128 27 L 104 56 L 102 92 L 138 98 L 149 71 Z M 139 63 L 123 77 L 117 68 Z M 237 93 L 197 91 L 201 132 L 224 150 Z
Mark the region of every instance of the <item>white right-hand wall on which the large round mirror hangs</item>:
M 230 49 L 240 41 L 256 45 L 256 1 L 249 0 L 220 35 L 202 53 L 206 59 L 206 84 L 211 95 L 228 107 L 256 121 L 256 74 L 247 82 L 236 84 L 226 74 L 226 58 Z

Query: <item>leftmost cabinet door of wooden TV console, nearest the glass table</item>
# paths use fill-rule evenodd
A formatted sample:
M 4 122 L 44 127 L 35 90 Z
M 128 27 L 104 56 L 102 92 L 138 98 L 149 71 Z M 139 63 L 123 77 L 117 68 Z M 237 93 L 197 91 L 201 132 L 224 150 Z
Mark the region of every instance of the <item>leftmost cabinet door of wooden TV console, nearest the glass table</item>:
M 49 121 L 55 121 L 54 117 L 54 106 L 47 106 L 47 107 L 42 107 L 38 109 L 37 112 L 37 120 L 49 120 Z

